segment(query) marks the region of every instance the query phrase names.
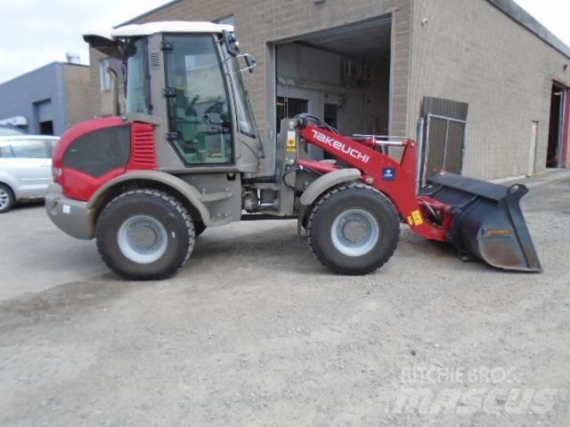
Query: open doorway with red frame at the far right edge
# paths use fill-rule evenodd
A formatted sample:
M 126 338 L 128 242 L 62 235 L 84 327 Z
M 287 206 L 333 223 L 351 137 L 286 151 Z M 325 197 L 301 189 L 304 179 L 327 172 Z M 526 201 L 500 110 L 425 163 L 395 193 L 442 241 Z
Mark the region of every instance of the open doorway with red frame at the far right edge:
M 550 126 L 549 126 L 549 146 L 546 156 L 546 167 L 563 168 L 566 167 L 566 119 L 568 112 L 567 89 L 562 85 L 554 83 L 552 85 L 550 99 Z

